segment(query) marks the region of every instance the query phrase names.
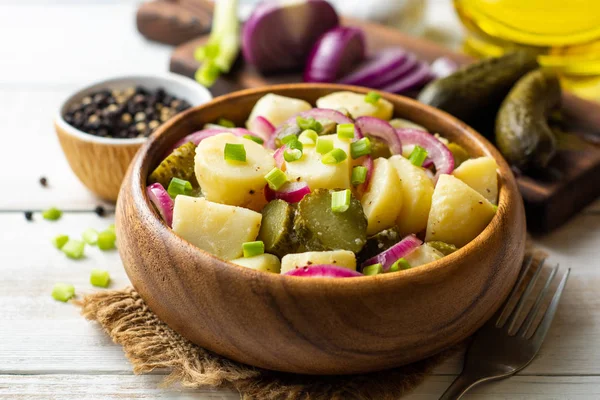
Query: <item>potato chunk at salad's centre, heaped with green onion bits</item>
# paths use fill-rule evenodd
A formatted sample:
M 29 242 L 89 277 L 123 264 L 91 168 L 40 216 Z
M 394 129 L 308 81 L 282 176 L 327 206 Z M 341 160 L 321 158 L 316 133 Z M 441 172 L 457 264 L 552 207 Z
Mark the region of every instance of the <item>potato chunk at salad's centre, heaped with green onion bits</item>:
M 350 141 L 339 139 L 337 135 L 321 136 L 331 140 L 333 147 L 342 149 L 348 157 L 339 164 L 323 164 L 321 154 L 315 147 L 304 147 L 302 158 L 298 161 L 286 162 L 285 169 L 290 181 L 304 181 L 311 190 L 349 189 L 352 174 L 352 158 L 350 157 Z

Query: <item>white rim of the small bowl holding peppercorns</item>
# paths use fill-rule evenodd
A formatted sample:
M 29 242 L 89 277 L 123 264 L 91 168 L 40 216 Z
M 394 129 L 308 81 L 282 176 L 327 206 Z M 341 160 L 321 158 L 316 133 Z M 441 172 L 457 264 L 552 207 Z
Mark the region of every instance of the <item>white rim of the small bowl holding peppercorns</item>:
M 203 85 L 199 84 L 198 82 L 196 82 L 195 80 L 193 80 L 191 78 L 188 78 L 187 76 L 175 74 L 172 72 L 164 72 L 164 73 L 160 73 L 160 74 L 120 75 L 120 76 L 113 76 L 113 77 L 109 77 L 109 78 L 100 79 L 100 80 L 94 81 L 92 83 L 89 83 L 85 86 L 81 86 L 81 87 L 77 88 L 74 92 L 72 92 L 71 94 L 66 96 L 61 101 L 58 111 L 56 113 L 56 116 L 54 117 L 54 121 L 55 121 L 57 127 L 60 128 L 63 132 L 66 132 L 67 134 L 69 134 L 79 140 L 86 141 L 86 142 L 92 142 L 92 143 L 104 144 L 104 145 L 112 145 L 112 146 L 130 146 L 130 145 L 143 144 L 148 141 L 148 137 L 120 139 L 120 138 L 105 138 L 105 137 L 90 135 L 89 133 L 84 132 L 80 129 L 77 129 L 74 126 L 72 126 L 71 124 L 69 124 L 67 121 L 65 121 L 64 113 L 66 111 L 67 105 L 70 104 L 75 98 L 79 97 L 81 95 L 81 93 L 83 93 L 83 92 L 101 89 L 101 88 L 108 88 L 108 87 L 110 87 L 110 85 L 119 84 L 119 83 L 127 82 L 127 81 L 149 81 L 149 80 L 153 80 L 153 79 L 163 81 L 164 82 L 163 86 L 165 86 L 166 91 L 168 91 L 168 87 L 167 87 L 168 85 L 170 85 L 172 83 L 177 83 L 177 84 L 180 84 L 182 86 L 189 88 L 190 90 L 198 92 L 202 97 L 204 97 L 204 102 L 201 104 L 196 104 L 195 106 L 194 106 L 194 104 L 192 104 L 192 106 L 194 106 L 194 107 L 198 107 L 202 104 L 206 104 L 206 103 L 212 101 L 212 99 L 213 99 L 211 92 Z M 186 99 L 186 101 L 187 101 L 187 99 Z M 194 107 L 192 107 L 192 108 L 194 108 Z M 182 114 L 182 113 L 179 113 L 179 114 Z M 175 117 L 179 116 L 179 114 L 177 114 Z M 173 118 L 175 118 L 175 117 L 173 117 Z

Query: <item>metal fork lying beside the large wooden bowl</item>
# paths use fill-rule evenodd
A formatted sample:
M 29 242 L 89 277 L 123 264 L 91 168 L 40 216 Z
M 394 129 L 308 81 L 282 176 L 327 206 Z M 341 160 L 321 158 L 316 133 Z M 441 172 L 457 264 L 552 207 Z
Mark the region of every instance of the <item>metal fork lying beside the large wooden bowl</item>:
M 538 313 L 543 305 L 542 301 L 550 291 L 552 280 L 558 271 L 558 265 L 552 268 L 527 317 L 524 320 L 520 318 L 524 312 L 525 303 L 532 294 L 543 269 L 544 261 L 545 259 L 541 259 L 539 262 L 533 262 L 533 257 L 529 257 L 525 261 L 518 282 L 508 300 L 494 317 L 475 334 L 465 355 L 462 373 L 444 392 L 440 400 L 460 399 L 475 385 L 512 376 L 533 360 L 548 333 L 558 308 L 560 296 L 571 272 L 570 268 L 566 270 L 541 322 L 537 327 L 533 327 L 534 321 L 540 317 Z M 527 276 L 532 271 L 531 280 L 525 290 L 520 293 L 520 288 L 526 283 Z M 523 322 L 521 323 L 521 321 Z M 532 327 L 533 332 L 529 332 Z

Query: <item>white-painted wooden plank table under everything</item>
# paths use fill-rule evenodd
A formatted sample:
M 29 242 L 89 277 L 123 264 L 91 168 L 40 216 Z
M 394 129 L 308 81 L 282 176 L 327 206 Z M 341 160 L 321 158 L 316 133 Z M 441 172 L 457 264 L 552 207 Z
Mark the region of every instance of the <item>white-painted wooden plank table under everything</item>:
M 110 271 L 113 288 L 128 284 L 116 252 L 88 247 L 86 259 L 70 261 L 50 244 L 58 233 L 78 236 L 113 222 L 112 213 L 94 214 L 99 202 L 69 170 L 52 117 L 63 97 L 91 80 L 167 68 L 170 48 L 135 31 L 136 3 L 0 0 L 0 399 L 239 398 L 160 389 L 160 372 L 134 376 L 120 347 L 50 296 L 56 282 L 74 284 L 79 295 L 97 290 L 88 283 L 94 267 Z M 449 7 L 445 0 L 435 5 Z M 40 176 L 49 188 L 38 184 Z M 58 222 L 23 216 L 53 205 L 67 210 Z M 573 269 L 546 343 L 518 376 L 467 399 L 600 398 L 600 203 L 537 244 Z M 407 399 L 436 399 L 460 363 L 456 357 L 439 366 Z

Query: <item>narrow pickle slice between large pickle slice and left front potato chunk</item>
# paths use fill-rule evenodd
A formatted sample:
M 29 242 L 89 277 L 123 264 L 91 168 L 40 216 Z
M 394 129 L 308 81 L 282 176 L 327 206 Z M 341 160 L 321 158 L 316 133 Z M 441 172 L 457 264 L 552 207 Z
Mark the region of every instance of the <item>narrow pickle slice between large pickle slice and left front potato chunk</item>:
M 258 240 L 265 244 L 265 252 L 283 257 L 293 252 L 294 207 L 283 200 L 272 200 L 262 210 Z

